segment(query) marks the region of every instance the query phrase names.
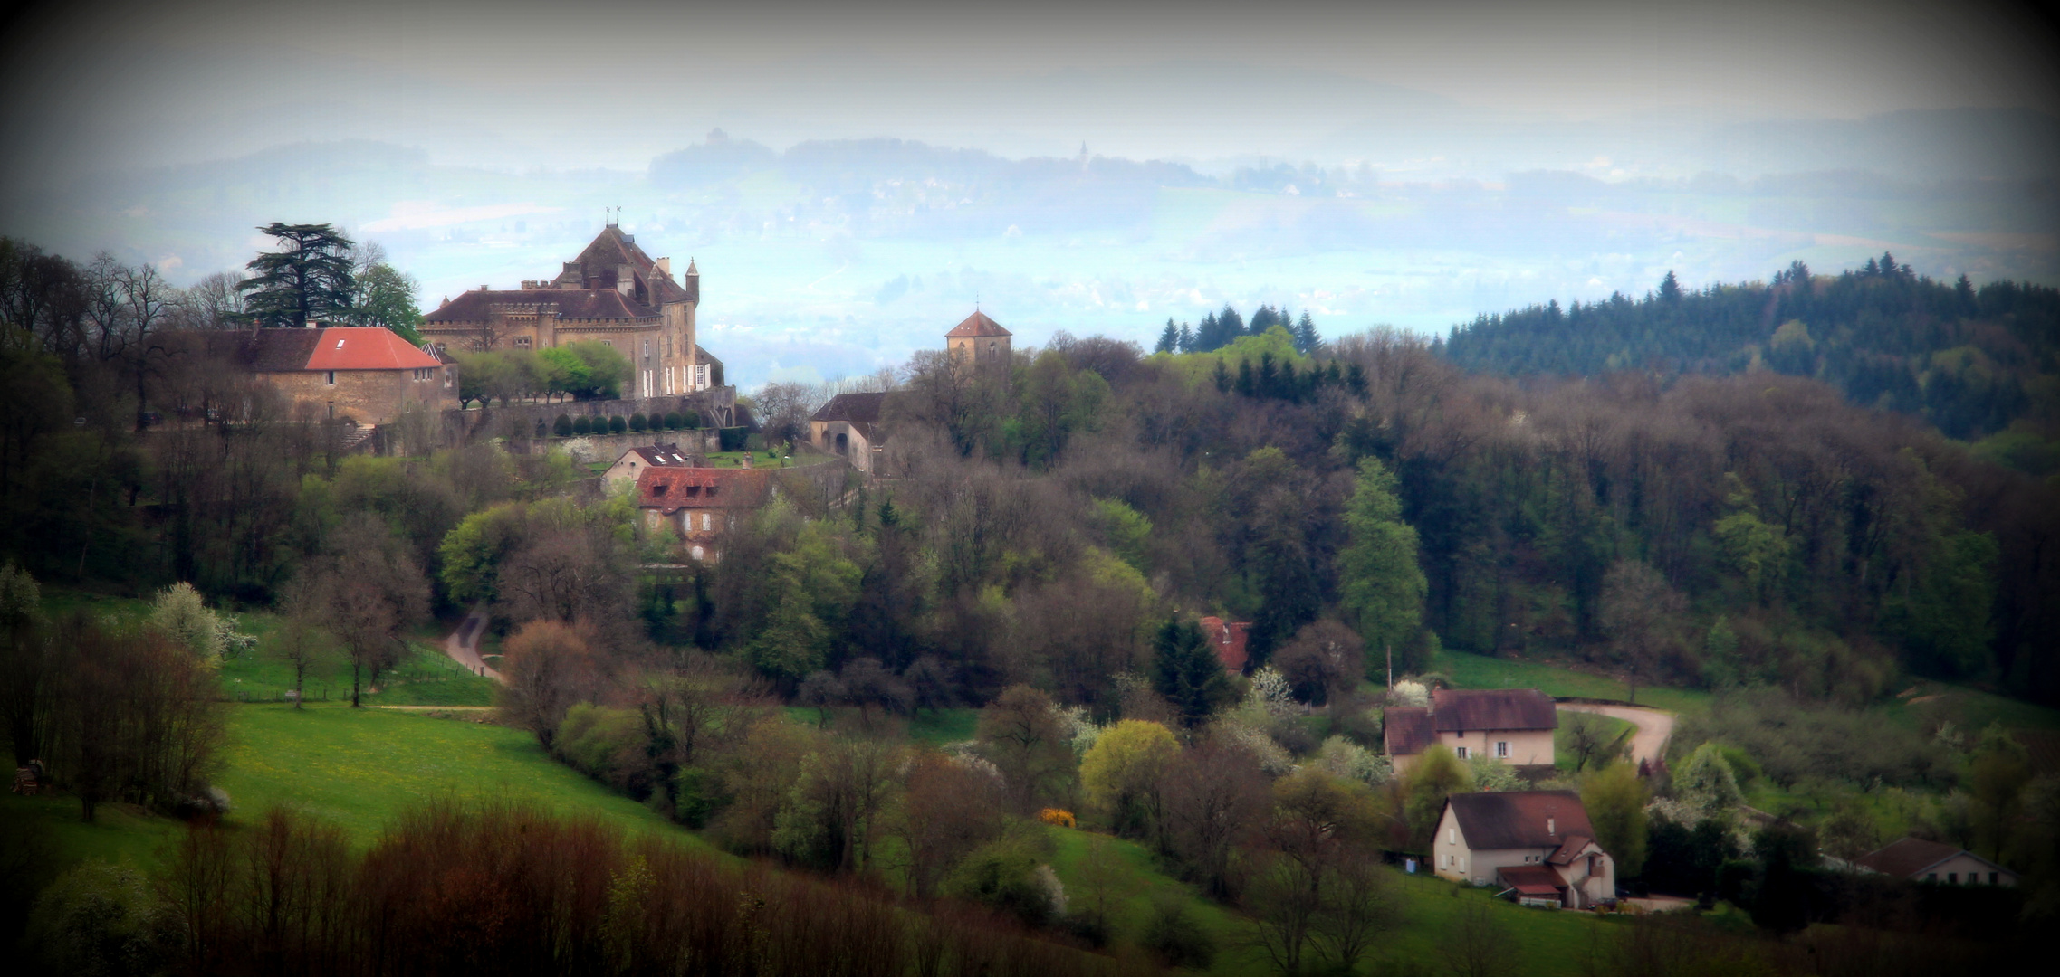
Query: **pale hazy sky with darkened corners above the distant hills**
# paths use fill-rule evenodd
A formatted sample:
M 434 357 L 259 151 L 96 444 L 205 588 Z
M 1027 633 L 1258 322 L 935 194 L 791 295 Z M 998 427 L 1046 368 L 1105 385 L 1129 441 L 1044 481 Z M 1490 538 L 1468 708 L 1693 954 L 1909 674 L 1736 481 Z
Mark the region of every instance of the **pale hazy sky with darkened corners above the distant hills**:
M 0 51 L 10 175 L 377 138 L 643 169 L 775 148 L 1339 162 L 1382 128 L 1673 125 L 2054 107 L 2056 31 L 1967 2 L 43 4 Z M 604 125 L 595 125 L 595 123 Z M 27 169 L 23 169 L 27 167 Z

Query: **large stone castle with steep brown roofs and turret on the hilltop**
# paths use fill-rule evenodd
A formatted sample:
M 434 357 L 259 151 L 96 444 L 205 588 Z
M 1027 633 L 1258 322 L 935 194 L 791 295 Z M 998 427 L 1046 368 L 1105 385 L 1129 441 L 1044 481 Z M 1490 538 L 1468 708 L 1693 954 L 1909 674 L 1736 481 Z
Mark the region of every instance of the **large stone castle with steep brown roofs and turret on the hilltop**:
M 672 278 L 670 257 L 651 257 L 608 224 L 564 263 L 558 278 L 447 298 L 422 317 L 431 343 L 461 350 L 544 350 L 602 341 L 630 360 L 624 397 L 670 397 L 721 387 L 721 364 L 694 346 L 700 272 Z

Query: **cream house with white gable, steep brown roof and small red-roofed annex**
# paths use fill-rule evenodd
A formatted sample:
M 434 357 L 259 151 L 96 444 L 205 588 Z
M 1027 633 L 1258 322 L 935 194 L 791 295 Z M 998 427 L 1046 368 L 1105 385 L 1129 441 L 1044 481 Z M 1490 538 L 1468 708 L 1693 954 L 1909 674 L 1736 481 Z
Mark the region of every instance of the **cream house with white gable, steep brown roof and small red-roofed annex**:
M 1572 790 L 1452 794 L 1432 837 L 1432 870 L 1526 905 L 1588 909 L 1617 897 L 1617 862 L 1594 843 Z

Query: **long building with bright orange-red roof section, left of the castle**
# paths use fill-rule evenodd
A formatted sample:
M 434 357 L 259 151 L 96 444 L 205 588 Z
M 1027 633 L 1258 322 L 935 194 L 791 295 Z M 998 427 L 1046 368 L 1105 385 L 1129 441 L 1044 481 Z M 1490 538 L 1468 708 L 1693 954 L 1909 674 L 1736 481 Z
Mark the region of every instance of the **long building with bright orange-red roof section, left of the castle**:
M 210 356 L 270 381 L 299 420 L 391 424 L 404 411 L 457 409 L 457 366 L 391 329 L 315 327 L 194 333 Z

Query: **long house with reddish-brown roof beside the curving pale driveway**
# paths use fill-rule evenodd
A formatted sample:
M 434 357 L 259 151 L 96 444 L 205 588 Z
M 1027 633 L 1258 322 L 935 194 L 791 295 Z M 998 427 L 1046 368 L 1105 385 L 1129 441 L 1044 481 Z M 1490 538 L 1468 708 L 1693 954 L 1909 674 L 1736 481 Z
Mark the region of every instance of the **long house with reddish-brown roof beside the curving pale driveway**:
M 1551 767 L 1557 728 L 1559 708 L 1537 689 L 1438 689 L 1430 708 L 1390 708 L 1384 738 L 1395 773 L 1407 771 L 1432 743 L 1444 743 L 1458 759 L 1481 755 L 1512 767 Z

